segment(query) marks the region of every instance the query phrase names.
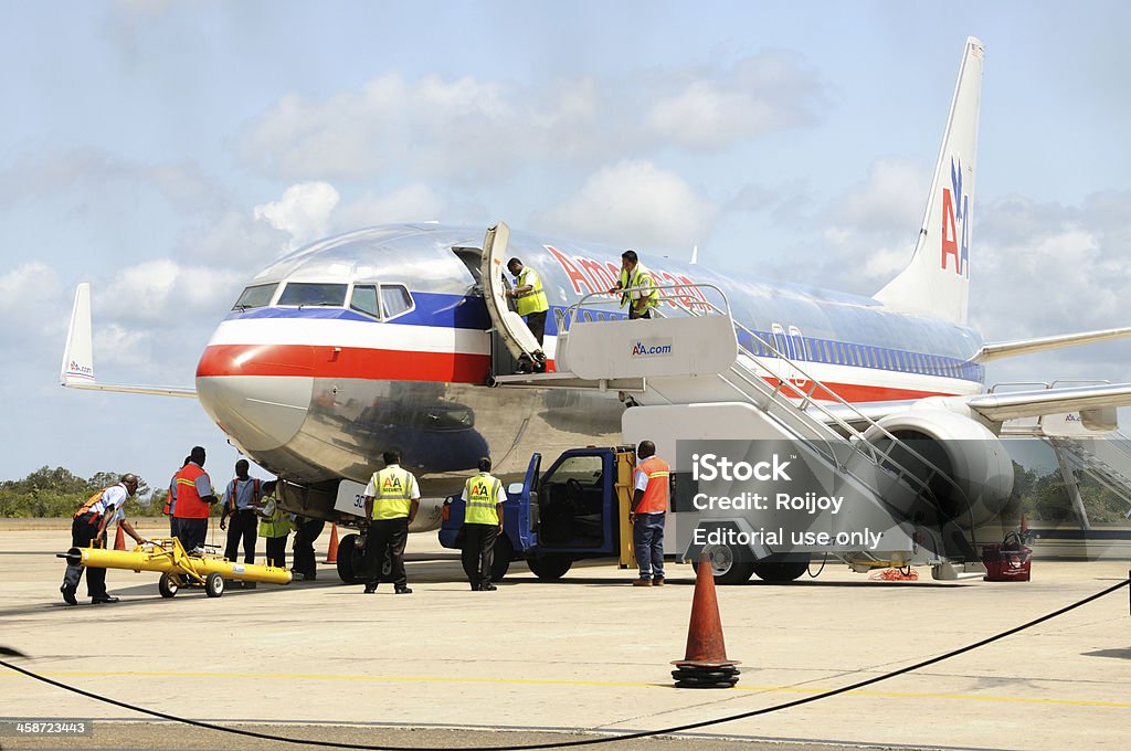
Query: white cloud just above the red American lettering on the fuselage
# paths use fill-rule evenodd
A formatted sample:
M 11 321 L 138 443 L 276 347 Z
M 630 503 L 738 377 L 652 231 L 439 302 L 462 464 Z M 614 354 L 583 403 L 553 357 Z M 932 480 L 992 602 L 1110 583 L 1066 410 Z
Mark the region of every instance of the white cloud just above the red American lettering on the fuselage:
M 556 209 L 535 214 L 537 228 L 622 244 L 690 248 L 708 232 L 717 208 L 673 172 L 623 161 L 593 174 Z

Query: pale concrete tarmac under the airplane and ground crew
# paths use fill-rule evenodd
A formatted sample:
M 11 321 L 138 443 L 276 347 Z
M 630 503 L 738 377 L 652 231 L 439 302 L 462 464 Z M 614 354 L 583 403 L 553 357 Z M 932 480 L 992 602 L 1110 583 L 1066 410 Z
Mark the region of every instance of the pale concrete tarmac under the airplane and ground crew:
M 683 657 L 691 567 L 632 587 L 612 561 L 556 582 L 512 564 L 470 592 L 434 533 L 408 541 L 412 595 L 317 581 L 157 593 L 156 573 L 111 570 L 121 602 L 59 595 L 68 529 L 0 521 L 3 662 L 126 705 L 292 744 L 156 719 L 0 666 L 0 749 L 515 748 L 1124 749 L 1131 727 L 1131 608 L 1124 586 L 944 662 L 802 706 L 728 719 L 886 675 L 1126 582 L 1126 558 L 1037 558 L 1028 582 L 874 581 L 829 563 L 787 586 L 719 587 L 726 690 L 672 685 Z M 156 536 L 161 521 L 140 523 Z M 319 541 L 326 558 L 329 534 Z M 288 551 L 290 554 L 290 551 Z M 261 551 L 260 551 L 261 555 Z M 815 572 L 814 564 L 812 570 Z M 3 720 L 93 726 L 27 735 Z M 718 720 L 663 737 L 639 732 Z

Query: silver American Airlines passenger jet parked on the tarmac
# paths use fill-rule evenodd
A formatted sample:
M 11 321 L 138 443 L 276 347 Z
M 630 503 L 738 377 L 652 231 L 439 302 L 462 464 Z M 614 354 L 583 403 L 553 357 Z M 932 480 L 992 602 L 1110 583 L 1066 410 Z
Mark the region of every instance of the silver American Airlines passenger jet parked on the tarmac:
M 685 314 L 702 297 L 699 285 L 715 285 L 752 333 L 751 355 L 780 380 L 796 382 L 789 363 L 801 364 L 855 414 L 930 440 L 994 439 L 1005 421 L 1052 413 L 1113 429 L 1115 407 L 1131 404 L 1131 385 L 986 392 L 991 360 L 1126 337 L 1131 327 L 986 343 L 967 326 L 983 60 L 983 44 L 969 37 L 914 252 L 875 295 L 644 251 L 656 283 L 677 287 L 659 312 Z M 343 499 L 380 468 L 382 451 L 399 449 L 425 497 L 412 530 L 434 529 L 443 497 L 458 492 L 478 457 L 490 455 L 504 480 L 520 478 L 534 451 L 619 442 L 624 409 L 649 399 L 647 390 L 551 388 L 570 309 L 614 286 L 624 249 L 528 232 L 509 233 L 506 252 L 542 276 L 551 376 L 499 387 L 513 356 L 500 340 L 507 327 L 485 302 L 501 282 L 490 267 L 484 274 L 490 236 L 483 227 L 390 224 L 280 258 L 248 282 L 221 321 L 195 388 L 98 382 L 89 290 L 80 285 L 61 382 L 198 398 L 241 452 L 285 481 L 285 504 L 310 516 L 340 520 Z M 624 317 L 615 300 L 601 316 Z M 830 404 L 832 413 L 840 407 Z

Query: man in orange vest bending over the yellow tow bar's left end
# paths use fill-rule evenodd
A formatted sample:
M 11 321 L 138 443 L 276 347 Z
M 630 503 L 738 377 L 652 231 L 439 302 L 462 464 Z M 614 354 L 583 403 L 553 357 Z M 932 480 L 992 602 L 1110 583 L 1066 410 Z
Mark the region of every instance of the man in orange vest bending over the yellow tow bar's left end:
M 126 499 L 132 498 L 137 492 L 137 475 L 124 474 L 116 485 L 104 487 L 87 499 L 71 520 L 71 547 L 105 547 L 106 527 L 114 521 L 139 545 L 147 542 L 126 518 Z M 59 592 L 63 594 L 63 602 L 68 605 L 78 605 L 75 593 L 78 592 L 78 582 L 85 568 L 79 563 L 67 564 L 67 573 L 63 575 Z M 95 605 L 118 602 L 118 597 L 111 597 L 106 593 L 106 569 L 103 568 L 92 567 L 87 572 L 86 594 Z

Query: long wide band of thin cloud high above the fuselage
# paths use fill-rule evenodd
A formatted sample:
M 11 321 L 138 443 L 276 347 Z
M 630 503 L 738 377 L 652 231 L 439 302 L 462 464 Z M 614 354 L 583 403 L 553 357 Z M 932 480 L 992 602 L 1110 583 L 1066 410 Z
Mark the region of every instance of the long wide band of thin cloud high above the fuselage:
M 527 87 L 398 72 L 312 98 L 287 93 L 242 139 L 243 158 L 284 179 L 374 175 L 499 181 L 532 161 L 579 169 L 657 146 L 722 150 L 815 120 L 815 76 L 785 53 L 628 78 Z

